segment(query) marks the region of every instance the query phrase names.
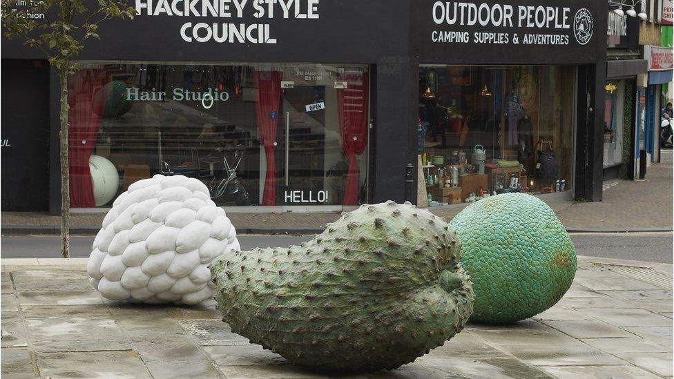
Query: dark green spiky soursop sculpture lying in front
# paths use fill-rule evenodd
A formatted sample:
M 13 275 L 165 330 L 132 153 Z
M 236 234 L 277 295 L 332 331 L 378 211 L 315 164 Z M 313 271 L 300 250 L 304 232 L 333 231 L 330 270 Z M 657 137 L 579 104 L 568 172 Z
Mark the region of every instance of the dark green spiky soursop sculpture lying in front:
M 288 249 L 211 264 L 232 331 L 299 365 L 394 369 L 459 333 L 472 313 L 456 232 L 409 203 L 363 205 Z

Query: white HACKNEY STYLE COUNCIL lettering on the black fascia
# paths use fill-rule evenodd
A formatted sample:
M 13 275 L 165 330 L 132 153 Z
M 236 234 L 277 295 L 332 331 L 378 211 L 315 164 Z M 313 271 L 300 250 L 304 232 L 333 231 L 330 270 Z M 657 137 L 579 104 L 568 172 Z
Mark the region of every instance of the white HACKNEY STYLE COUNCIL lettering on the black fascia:
M 318 19 L 320 0 L 135 0 L 137 16 L 217 17 L 233 21 L 254 17 L 260 23 L 193 22 L 180 27 L 186 42 L 276 43 L 264 19 Z

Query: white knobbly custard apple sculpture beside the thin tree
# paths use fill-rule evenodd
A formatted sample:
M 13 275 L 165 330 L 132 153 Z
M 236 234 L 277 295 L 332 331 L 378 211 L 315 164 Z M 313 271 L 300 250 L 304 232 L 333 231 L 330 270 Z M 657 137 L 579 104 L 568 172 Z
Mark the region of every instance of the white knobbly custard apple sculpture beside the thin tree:
M 198 304 L 213 296 L 208 265 L 239 249 L 234 226 L 202 182 L 155 175 L 117 197 L 87 272 L 111 300 Z

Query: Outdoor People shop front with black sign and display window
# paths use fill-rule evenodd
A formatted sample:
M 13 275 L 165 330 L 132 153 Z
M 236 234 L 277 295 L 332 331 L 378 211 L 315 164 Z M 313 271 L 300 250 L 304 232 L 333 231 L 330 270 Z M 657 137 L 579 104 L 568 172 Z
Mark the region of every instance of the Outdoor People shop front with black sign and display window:
M 580 1 L 418 4 L 418 201 L 509 192 L 601 200 L 592 181 L 602 169 L 606 10 Z

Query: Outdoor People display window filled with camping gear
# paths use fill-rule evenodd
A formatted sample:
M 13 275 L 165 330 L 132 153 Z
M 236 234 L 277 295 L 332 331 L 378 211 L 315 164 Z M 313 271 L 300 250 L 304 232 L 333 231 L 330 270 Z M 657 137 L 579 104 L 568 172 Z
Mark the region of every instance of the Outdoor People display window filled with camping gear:
M 419 88 L 430 199 L 571 189 L 574 67 L 422 66 Z

